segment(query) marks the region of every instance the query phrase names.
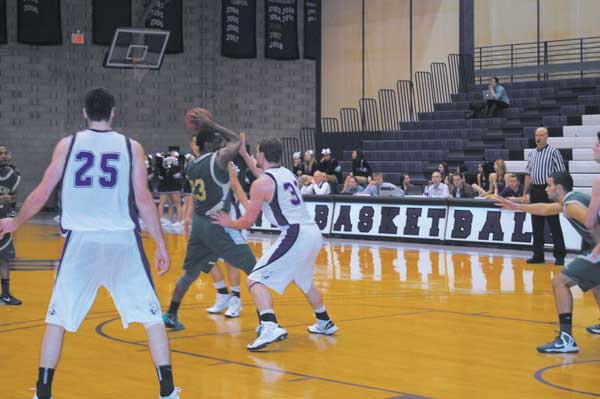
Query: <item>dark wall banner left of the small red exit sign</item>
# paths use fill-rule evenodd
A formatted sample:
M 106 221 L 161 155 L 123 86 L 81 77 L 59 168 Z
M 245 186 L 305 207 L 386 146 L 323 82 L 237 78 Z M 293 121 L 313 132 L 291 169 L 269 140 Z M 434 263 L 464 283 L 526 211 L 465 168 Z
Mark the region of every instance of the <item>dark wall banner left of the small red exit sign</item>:
M 60 0 L 18 0 L 17 40 L 37 45 L 62 44 Z

